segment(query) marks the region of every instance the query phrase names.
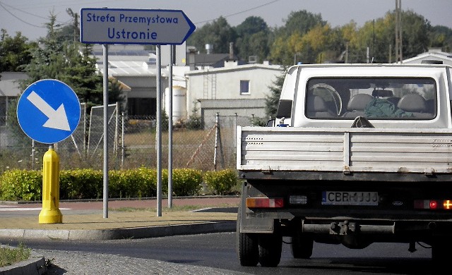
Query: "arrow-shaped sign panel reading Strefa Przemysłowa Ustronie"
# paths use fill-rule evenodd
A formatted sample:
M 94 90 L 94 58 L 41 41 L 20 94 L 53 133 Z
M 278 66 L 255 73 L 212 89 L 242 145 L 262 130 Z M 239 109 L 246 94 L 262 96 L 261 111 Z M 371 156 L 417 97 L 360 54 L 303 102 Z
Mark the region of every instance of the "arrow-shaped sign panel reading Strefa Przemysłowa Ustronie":
M 80 22 L 88 44 L 182 44 L 196 28 L 180 10 L 81 8 Z

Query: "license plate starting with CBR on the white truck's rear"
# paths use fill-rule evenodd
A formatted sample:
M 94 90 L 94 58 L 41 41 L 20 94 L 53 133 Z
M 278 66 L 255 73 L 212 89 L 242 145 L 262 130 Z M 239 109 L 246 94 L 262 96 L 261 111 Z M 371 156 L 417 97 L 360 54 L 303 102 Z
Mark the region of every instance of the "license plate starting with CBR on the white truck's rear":
M 378 192 L 323 191 L 324 205 L 378 205 Z

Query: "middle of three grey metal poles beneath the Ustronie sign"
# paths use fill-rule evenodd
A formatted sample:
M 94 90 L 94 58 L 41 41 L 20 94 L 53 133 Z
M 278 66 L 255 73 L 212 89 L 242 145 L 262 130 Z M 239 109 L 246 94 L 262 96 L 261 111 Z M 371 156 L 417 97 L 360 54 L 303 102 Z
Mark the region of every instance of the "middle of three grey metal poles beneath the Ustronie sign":
M 157 45 L 157 216 L 162 216 L 162 59 L 160 45 Z

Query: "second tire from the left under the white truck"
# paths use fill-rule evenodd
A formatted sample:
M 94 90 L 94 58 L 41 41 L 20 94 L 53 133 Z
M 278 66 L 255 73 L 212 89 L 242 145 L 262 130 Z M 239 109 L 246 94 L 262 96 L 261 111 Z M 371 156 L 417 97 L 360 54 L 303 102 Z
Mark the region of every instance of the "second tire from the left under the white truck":
M 258 236 L 259 263 L 262 267 L 278 267 L 283 248 L 283 236 L 278 231 L 270 234 L 262 233 Z

